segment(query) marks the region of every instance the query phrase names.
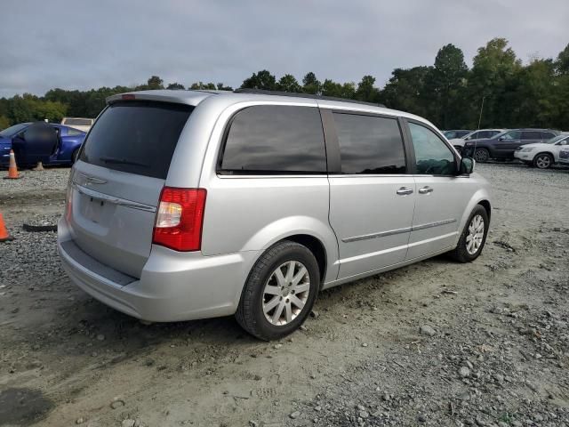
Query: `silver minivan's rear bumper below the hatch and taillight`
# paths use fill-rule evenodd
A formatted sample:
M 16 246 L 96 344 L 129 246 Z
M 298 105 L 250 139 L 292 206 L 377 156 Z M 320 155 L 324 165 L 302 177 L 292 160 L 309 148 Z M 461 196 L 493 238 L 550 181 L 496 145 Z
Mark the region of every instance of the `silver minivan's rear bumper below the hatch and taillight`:
M 69 250 L 72 245 L 67 222 L 61 218 L 58 252 L 76 286 L 116 310 L 153 322 L 234 314 L 256 256 L 254 252 L 203 256 L 153 246 L 140 278 L 123 285 L 128 277 L 107 266 L 101 268 L 88 254 L 77 256 Z

